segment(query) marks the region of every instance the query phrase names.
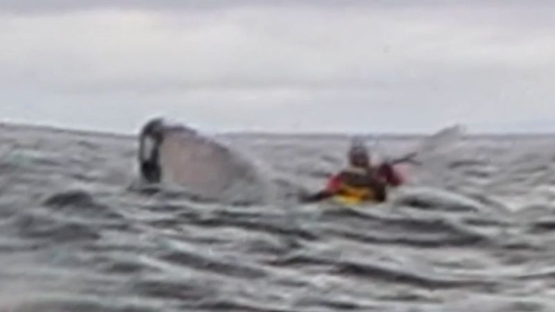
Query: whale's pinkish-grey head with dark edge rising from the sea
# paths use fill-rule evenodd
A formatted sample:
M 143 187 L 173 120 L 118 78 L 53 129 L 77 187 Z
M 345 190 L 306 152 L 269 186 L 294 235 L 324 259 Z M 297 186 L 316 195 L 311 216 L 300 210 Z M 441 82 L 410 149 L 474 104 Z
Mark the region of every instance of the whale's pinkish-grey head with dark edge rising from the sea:
M 139 173 L 147 184 L 172 184 L 209 200 L 260 201 L 266 184 L 245 155 L 212 137 L 162 118 L 139 133 Z

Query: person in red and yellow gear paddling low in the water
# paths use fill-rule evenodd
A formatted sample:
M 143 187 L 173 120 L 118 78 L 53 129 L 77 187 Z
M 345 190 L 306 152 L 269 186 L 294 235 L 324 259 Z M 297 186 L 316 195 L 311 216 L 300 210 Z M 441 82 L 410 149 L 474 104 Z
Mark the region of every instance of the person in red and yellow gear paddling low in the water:
M 330 177 L 326 187 L 307 196 L 305 201 L 318 201 L 332 196 L 352 196 L 361 200 L 384 202 L 387 187 L 399 187 L 404 181 L 390 162 L 373 166 L 368 148 L 355 138 L 348 150 L 348 166 Z

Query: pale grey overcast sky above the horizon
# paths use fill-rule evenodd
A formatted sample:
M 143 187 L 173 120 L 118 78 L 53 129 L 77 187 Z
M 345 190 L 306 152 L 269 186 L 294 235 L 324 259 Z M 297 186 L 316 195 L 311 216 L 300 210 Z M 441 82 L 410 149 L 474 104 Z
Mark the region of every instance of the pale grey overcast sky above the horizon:
M 555 1 L 1 0 L 0 120 L 555 131 Z

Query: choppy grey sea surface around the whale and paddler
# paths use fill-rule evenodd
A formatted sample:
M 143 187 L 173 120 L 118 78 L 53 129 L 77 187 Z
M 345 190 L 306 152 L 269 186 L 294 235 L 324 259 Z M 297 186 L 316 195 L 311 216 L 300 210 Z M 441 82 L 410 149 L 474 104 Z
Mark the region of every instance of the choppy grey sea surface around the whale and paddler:
M 348 144 L 221 139 L 314 191 Z M 135 191 L 136 149 L 133 136 L 0 126 L 1 312 L 555 311 L 555 135 L 466 137 L 359 208 Z

